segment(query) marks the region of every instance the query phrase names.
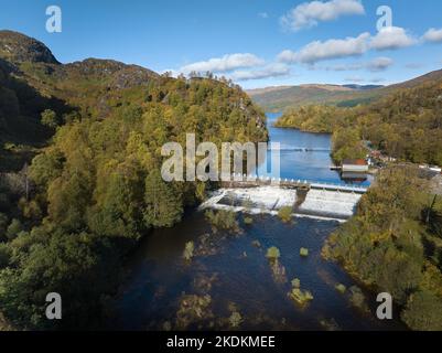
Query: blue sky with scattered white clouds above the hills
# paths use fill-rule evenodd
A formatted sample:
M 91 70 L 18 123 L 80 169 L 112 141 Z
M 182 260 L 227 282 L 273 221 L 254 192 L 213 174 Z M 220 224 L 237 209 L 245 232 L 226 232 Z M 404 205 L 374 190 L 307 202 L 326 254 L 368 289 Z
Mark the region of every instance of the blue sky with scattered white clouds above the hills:
M 440 0 L 0 3 L 0 29 L 42 41 L 63 63 L 98 57 L 174 75 L 211 71 L 244 88 L 388 85 L 442 68 Z M 46 31 L 50 6 L 62 11 L 60 33 Z M 381 6 L 391 21 L 377 14 Z

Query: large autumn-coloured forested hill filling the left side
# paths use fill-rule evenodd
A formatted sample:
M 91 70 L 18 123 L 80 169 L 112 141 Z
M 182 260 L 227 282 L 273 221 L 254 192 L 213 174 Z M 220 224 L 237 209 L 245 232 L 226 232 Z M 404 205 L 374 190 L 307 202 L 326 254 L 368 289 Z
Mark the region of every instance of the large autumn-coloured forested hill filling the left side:
M 267 141 L 265 115 L 226 79 L 96 58 L 60 64 L 14 32 L 0 32 L 0 165 L 21 170 L 0 173 L 0 318 L 19 329 L 94 327 L 127 250 L 179 222 L 208 186 L 165 183 L 163 143 L 184 143 L 186 132 Z M 53 291 L 62 321 L 44 319 Z

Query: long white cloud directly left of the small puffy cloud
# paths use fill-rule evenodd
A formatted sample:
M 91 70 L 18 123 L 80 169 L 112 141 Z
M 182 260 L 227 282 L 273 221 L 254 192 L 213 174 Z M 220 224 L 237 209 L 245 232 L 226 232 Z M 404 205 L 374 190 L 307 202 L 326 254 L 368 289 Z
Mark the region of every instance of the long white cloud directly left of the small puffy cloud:
M 368 50 L 367 41 L 370 38 L 368 32 L 357 38 L 346 38 L 345 40 L 328 40 L 325 42 L 315 41 L 299 52 L 285 50 L 278 55 L 278 61 L 282 63 L 314 64 L 330 58 L 346 56 L 358 56 Z

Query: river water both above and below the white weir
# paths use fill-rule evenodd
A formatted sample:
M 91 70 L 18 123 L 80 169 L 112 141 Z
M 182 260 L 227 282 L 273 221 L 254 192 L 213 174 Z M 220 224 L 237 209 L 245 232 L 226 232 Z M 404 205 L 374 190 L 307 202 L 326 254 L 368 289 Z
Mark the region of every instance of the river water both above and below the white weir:
M 328 135 L 273 128 L 276 117 L 269 115 L 272 141 L 330 149 Z M 330 164 L 328 152 L 281 152 L 282 178 L 342 183 Z M 190 211 L 176 226 L 149 234 L 127 265 L 110 328 L 227 330 L 238 324 L 235 328 L 242 330 L 403 329 L 397 320 L 377 320 L 376 298 L 364 289 L 369 310 L 354 307 L 348 288 L 355 282 L 337 264 L 321 257 L 324 240 L 338 223 L 297 218 L 283 224 L 277 217 L 257 215 L 246 225 L 240 214 L 238 220 L 240 234 L 215 234 L 204 214 Z M 183 250 L 191 240 L 196 256 L 186 263 Z M 266 258 L 271 246 L 280 249 L 287 281 L 279 282 L 272 276 Z M 308 257 L 300 256 L 301 247 L 309 249 Z M 314 297 L 305 307 L 288 297 L 293 278 Z M 347 288 L 345 293 L 336 290 L 337 284 Z M 233 321 L 234 312 L 239 319 L 236 315 Z

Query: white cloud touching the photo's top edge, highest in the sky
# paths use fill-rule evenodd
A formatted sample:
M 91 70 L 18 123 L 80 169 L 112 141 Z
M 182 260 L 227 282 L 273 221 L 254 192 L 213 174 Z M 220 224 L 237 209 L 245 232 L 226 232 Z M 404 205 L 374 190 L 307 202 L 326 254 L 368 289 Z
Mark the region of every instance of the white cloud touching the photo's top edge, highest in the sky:
M 281 18 L 281 24 L 292 31 L 317 25 L 320 21 L 336 20 L 342 15 L 364 14 L 359 0 L 331 0 L 304 2 Z

